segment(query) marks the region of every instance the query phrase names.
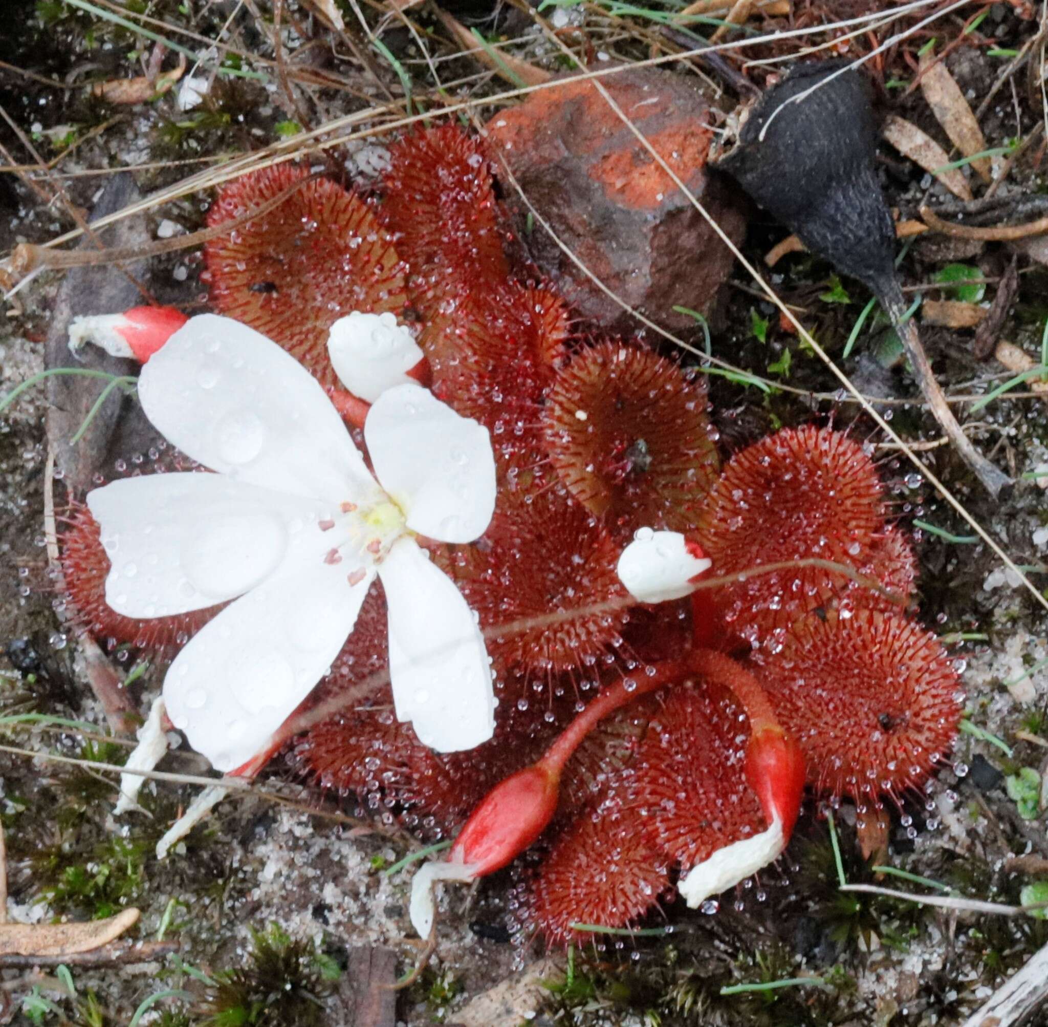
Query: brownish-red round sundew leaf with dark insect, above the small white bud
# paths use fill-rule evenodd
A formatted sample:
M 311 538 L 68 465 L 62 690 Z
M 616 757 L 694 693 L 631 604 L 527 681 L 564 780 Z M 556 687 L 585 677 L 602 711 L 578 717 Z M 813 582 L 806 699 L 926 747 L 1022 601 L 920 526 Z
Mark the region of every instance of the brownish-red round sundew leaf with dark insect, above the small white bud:
M 543 423 L 550 461 L 586 508 L 630 534 L 687 531 L 717 474 L 705 389 L 650 349 L 604 342 L 556 377 Z

